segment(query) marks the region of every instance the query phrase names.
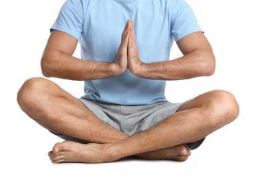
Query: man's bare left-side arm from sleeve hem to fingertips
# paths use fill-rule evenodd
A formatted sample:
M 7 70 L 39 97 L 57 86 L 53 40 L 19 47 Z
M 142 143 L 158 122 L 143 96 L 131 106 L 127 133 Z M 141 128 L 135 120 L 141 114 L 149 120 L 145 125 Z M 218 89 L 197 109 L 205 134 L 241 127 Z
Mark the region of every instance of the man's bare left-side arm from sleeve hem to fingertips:
M 124 31 L 127 31 L 127 27 Z M 123 34 L 127 34 L 127 32 Z M 124 42 L 126 38 L 125 35 L 122 36 L 118 56 L 126 56 L 122 55 L 124 52 L 127 53 L 127 49 L 123 47 L 125 46 Z M 76 49 L 77 43 L 76 38 L 69 34 L 58 30 L 52 31 L 41 58 L 43 75 L 45 77 L 58 77 L 72 80 L 93 80 L 114 77 L 120 75 L 127 69 L 127 64 L 126 66 L 124 66 L 125 64 L 122 65 L 120 61 L 124 60 L 120 59 L 113 63 L 108 63 L 91 62 L 73 57 L 72 54 Z

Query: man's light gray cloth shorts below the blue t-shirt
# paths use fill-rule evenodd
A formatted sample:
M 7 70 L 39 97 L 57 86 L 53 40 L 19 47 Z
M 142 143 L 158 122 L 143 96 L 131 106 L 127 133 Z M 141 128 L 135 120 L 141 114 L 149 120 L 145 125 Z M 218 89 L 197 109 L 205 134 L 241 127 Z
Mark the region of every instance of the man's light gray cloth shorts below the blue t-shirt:
M 116 105 L 86 99 L 80 100 L 104 123 L 129 136 L 154 127 L 168 116 L 175 114 L 180 105 L 182 105 L 182 103 L 170 103 L 169 101 L 151 105 Z M 64 140 L 86 143 L 70 136 L 57 136 Z M 195 146 L 199 147 L 200 144 L 193 145 L 193 149 L 197 148 Z M 185 146 L 187 149 L 192 149 L 187 144 Z

